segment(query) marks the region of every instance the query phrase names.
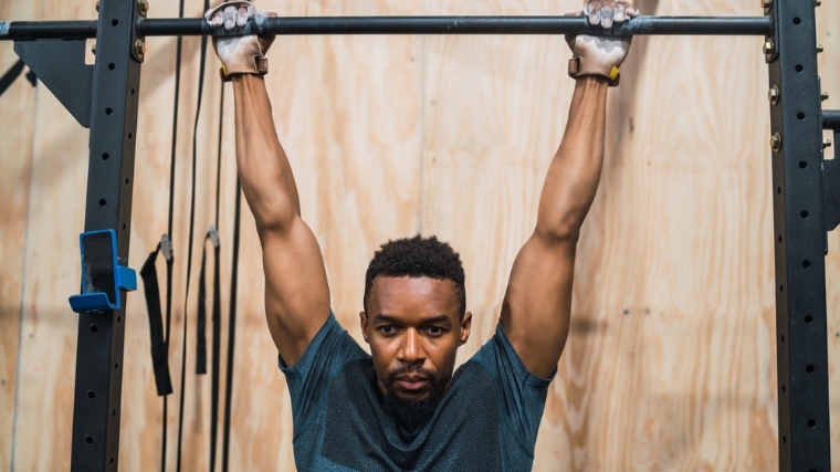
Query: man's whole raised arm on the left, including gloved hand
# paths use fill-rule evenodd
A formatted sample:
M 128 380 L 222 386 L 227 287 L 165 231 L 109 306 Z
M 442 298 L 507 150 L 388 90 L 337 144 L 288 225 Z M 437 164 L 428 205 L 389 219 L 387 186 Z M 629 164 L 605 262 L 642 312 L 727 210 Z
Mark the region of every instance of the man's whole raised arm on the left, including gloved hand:
M 274 15 L 246 2 L 208 11 L 217 28 L 233 30 L 252 15 Z M 263 251 L 265 316 L 283 361 L 292 366 L 329 316 L 329 286 L 318 241 L 301 219 L 297 187 L 280 145 L 263 77 L 264 56 L 273 36 L 213 39 L 233 82 L 237 115 L 237 166 Z

